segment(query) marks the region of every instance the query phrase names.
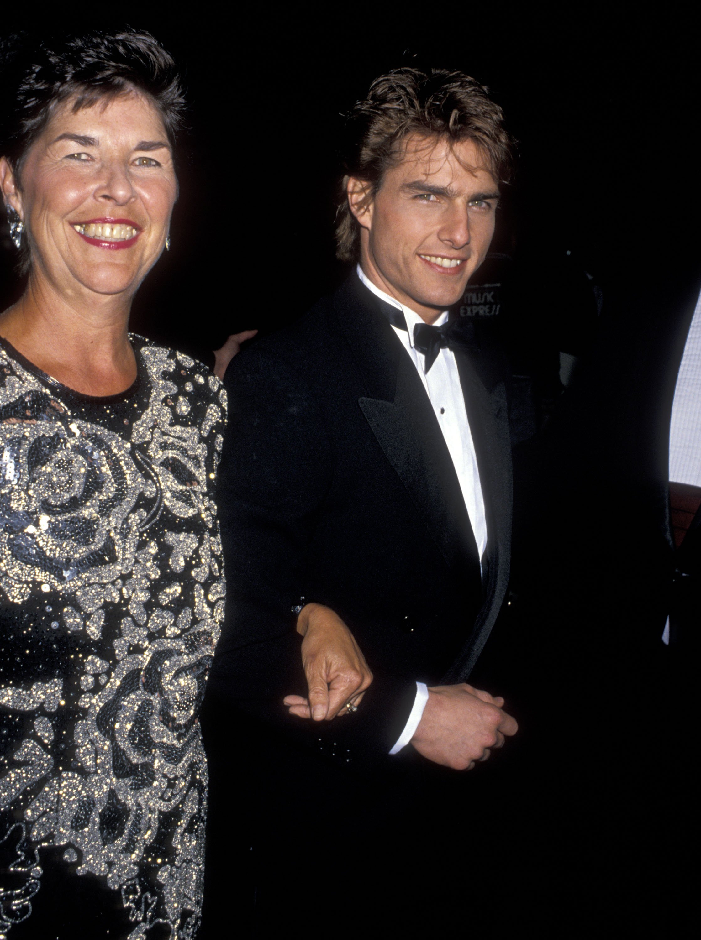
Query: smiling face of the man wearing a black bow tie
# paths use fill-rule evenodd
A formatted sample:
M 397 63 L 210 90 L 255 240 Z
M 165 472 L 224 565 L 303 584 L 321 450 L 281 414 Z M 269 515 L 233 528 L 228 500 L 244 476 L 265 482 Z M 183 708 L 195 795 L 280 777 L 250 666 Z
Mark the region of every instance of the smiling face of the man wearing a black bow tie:
M 494 234 L 499 187 L 484 156 L 471 140 L 412 136 L 364 211 L 362 192 L 360 180 L 349 181 L 363 271 L 423 320 L 436 320 L 463 295 Z

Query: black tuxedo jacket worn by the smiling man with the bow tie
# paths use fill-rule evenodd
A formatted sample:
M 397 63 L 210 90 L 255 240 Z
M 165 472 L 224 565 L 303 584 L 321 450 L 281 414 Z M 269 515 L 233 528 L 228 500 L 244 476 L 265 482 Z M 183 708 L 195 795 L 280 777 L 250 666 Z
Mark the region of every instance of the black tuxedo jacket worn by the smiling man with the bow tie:
M 487 337 L 457 353 L 486 504 L 481 576 L 438 421 L 378 303 L 353 274 L 292 328 L 236 356 L 225 379 L 218 504 L 229 595 L 211 687 L 262 727 L 343 760 L 388 754 L 416 680 L 467 679 L 509 572 L 501 355 Z M 281 704 L 306 693 L 291 613 L 302 597 L 343 617 L 374 672 L 328 744 L 330 726 Z

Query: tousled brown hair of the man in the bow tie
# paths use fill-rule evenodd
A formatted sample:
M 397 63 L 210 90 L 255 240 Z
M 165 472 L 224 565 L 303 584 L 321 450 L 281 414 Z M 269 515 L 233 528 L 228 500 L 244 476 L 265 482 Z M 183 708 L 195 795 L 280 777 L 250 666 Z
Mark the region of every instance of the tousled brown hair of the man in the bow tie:
M 473 140 L 495 180 L 512 174 L 512 142 L 503 127 L 502 109 L 488 89 L 462 71 L 396 69 L 376 78 L 368 96 L 356 102 L 345 121 L 343 180 L 336 209 L 336 255 L 358 258 L 359 225 L 348 205 L 350 177 L 370 184 L 370 201 L 385 173 L 402 159 L 410 134 Z

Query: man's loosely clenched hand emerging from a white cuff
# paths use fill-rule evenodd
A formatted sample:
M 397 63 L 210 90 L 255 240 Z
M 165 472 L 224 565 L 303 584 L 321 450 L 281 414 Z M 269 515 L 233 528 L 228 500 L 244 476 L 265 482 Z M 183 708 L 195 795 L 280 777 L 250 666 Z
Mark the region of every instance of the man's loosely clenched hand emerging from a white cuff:
M 504 736 L 516 734 L 518 725 L 502 711 L 503 698 L 471 685 L 437 685 L 428 690 L 428 701 L 411 744 L 428 760 L 471 770 L 486 760 L 493 747 L 502 747 Z

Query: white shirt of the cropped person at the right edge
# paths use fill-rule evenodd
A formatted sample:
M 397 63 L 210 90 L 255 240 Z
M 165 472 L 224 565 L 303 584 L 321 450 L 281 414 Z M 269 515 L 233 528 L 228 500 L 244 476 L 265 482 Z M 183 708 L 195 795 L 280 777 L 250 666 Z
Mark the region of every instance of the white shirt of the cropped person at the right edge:
M 701 486 L 701 294 L 677 374 L 669 426 L 669 479 Z M 662 643 L 669 644 L 669 618 Z

